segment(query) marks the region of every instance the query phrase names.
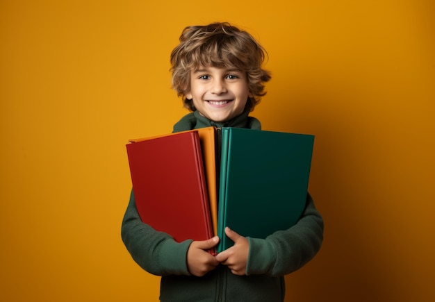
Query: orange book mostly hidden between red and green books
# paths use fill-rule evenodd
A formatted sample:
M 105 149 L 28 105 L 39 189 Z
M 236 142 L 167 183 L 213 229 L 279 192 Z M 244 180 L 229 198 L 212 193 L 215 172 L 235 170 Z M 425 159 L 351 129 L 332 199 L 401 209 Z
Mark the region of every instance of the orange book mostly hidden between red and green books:
M 210 214 L 213 226 L 213 235 L 217 235 L 217 177 L 216 177 L 216 152 L 215 152 L 215 131 L 213 126 L 206 128 L 199 128 L 195 130 L 182 131 L 178 133 L 197 131 L 199 141 L 201 142 L 202 157 L 204 162 L 204 170 L 206 174 L 206 186 L 208 192 L 208 201 L 210 203 Z M 129 140 L 129 142 L 142 142 L 144 140 L 151 140 L 157 137 L 167 135 L 174 135 L 177 133 L 170 133 L 164 135 L 156 135 L 153 137 L 142 137 L 138 139 Z

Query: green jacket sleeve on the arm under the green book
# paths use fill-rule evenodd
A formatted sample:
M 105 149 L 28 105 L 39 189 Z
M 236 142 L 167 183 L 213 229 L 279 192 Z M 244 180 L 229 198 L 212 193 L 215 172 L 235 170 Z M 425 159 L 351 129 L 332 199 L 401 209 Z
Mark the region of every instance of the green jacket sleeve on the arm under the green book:
M 302 217 L 295 226 L 279 230 L 265 239 L 250 238 L 246 274 L 284 276 L 303 267 L 320 250 L 323 219 L 310 194 Z

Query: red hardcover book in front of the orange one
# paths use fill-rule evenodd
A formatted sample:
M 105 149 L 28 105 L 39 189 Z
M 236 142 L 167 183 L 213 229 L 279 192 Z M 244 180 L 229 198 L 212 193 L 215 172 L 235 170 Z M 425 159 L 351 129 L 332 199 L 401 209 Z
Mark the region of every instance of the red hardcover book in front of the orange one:
M 197 131 L 126 145 L 140 218 L 174 240 L 213 237 Z

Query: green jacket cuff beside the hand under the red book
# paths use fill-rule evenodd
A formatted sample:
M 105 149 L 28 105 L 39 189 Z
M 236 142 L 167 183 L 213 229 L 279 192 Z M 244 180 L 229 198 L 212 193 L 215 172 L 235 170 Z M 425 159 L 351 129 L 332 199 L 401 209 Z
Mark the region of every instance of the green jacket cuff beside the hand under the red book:
M 192 240 L 176 242 L 165 240 L 161 246 L 161 265 L 167 274 L 189 275 L 187 253 Z

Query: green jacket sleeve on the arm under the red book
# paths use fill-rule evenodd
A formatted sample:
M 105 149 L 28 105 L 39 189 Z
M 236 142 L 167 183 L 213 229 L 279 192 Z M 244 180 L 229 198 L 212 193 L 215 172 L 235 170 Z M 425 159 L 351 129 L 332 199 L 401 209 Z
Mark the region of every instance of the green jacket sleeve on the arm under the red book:
M 167 233 L 144 224 L 136 209 L 133 190 L 122 220 L 121 237 L 133 260 L 150 274 L 190 275 L 186 257 L 192 240 L 178 243 Z

